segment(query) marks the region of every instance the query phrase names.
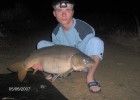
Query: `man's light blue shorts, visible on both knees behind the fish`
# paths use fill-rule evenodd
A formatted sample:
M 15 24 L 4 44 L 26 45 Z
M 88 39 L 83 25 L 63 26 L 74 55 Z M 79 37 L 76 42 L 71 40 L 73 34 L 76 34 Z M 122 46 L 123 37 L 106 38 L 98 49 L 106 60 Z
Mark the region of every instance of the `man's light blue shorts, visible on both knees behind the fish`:
M 52 46 L 52 45 L 55 44 L 50 41 L 41 40 L 37 44 L 37 49 L 40 49 L 42 47 Z M 88 56 L 95 55 L 102 59 L 104 53 L 104 42 L 98 37 L 93 37 L 86 43 L 85 47 L 83 48 L 84 50 L 81 48 L 78 49 Z

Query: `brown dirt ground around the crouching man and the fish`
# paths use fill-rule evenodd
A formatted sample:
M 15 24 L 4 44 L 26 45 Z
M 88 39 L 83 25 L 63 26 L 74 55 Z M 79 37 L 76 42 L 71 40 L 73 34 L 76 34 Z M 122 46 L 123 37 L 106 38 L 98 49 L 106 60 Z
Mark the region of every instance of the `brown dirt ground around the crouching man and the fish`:
M 36 32 L 28 36 L 20 33 L 10 38 L 14 42 L 8 38 L 8 42 L 4 42 L 5 47 L 0 48 L 1 74 L 9 73 L 6 67 L 26 58 L 36 49 L 36 43 L 46 36 Z M 53 85 L 69 100 L 139 100 L 139 52 L 121 46 L 104 36 L 101 38 L 105 43 L 105 53 L 95 73 L 96 80 L 101 84 L 101 93 L 89 92 L 86 75 L 82 72 L 73 72 L 71 77 L 57 79 Z

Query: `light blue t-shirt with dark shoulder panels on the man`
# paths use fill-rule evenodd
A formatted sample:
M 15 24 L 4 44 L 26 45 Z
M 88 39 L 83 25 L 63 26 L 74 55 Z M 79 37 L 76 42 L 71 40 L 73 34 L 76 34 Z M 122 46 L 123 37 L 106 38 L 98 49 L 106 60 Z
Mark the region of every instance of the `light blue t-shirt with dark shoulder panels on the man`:
M 86 22 L 73 18 L 73 25 L 66 32 L 60 24 L 52 32 L 54 44 L 67 45 L 84 50 L 89 39 L 95 36 L 95 30 Z

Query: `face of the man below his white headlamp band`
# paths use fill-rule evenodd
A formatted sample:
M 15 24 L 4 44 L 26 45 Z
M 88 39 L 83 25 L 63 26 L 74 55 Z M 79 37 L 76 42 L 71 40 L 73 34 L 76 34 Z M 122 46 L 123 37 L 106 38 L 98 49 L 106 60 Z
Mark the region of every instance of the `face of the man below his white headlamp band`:
M 72 21 L 74 11 L 73 8 L 70 7 L 56 8 L 54 9 L 53 14 L 60 24 L 67 25 Z

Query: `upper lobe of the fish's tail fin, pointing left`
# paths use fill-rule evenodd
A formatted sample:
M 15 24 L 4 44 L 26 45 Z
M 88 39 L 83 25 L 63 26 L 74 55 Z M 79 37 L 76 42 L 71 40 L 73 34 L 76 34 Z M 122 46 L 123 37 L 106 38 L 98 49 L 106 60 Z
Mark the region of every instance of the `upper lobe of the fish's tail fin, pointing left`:
M 12 72 L 18 72 L 18 70 L 20 68 L 23 68 L 23 62 L 24 61 L 20 61 L 20 62 L 17 62 L 9 67 L 7 67 L 8 70 L 12 71 Z

